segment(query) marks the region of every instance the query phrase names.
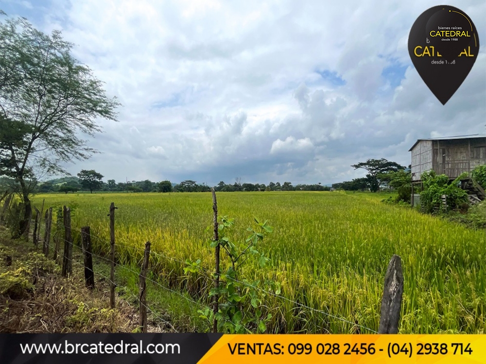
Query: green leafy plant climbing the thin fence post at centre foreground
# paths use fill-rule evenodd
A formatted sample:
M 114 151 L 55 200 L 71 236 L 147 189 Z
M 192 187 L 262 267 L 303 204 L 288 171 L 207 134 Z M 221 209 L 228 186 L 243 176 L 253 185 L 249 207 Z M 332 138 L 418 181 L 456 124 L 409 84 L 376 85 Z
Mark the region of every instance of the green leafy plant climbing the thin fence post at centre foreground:
M 212 288 L 209 293 L 209 297 L 218 297 L 218 312 L 214 316 L 213 310 L 209 307 L 198 311 L 200 317 L 207 319 L 208 322 L 213 322 L 216 318 L 218 332 L 265 332 L 267 323 L 272 319 L 272 314 L 266 316 L 262 314 L 262 298 L 269 290 L 277 295 L 280 294 L 280 284 L 272 280 L 263 282 L 241 280 L 239 277 L 241 266 L 248 259 L 256 260 L 261 268 L 266 267 L 269 262 L 259 248 L 265 235 L 273 232 L 273 227 L 268 225 L 268 220 L 261 222 L 255 218 L 255 222 L 257 228 L 248 228 L 250 235 L 244 243 L 237 244 L 226 235 L 233 226 L 234 219 L 223 216 L 218 225 L 219 240 L 211 240 L 209 243 L 211 248 L 216 248 L 218 245 L 223 248 L 229 259 L 226 272 L 219 277 L 219 286 Z M 188 274 L 199 271 L 200 263 L 199 259 L 195 262 L 187 260 L 184 272 Z M 215 275 L 213 279 L 216 279 Z

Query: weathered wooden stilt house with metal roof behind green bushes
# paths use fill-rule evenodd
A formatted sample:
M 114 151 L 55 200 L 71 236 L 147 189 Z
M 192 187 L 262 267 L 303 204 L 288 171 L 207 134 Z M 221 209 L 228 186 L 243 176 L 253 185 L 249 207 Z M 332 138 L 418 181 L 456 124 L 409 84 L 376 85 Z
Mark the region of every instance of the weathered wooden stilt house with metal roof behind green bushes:
M 422 173 L 434 170 L 455 180 L 463 172 L 470 172 L 477 165 L 486 164 L 486 135 L 460 135 L 418 139 L 410 148 L 412 152 L 412 204 L 414 187 L 421 184 Z M 485 191 L 472 180 L 463 181 L 471 202 L 486 198 Z

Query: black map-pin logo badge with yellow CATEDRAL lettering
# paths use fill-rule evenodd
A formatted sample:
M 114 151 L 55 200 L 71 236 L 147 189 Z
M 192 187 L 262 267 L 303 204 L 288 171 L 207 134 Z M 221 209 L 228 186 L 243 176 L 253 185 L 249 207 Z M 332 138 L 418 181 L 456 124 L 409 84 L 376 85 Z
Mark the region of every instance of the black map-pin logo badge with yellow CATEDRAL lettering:
M 445 105 L 466 79 L 479 52 L 479 37 L 462 10 L 439 5 L 424 11 L 408 36 L 408 52 L 418 74 Z

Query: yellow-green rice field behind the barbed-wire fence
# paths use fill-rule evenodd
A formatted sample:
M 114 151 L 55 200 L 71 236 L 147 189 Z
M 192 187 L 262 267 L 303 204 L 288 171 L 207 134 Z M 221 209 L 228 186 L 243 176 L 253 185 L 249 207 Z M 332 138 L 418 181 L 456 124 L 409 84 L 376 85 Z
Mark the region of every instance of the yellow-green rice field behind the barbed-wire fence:
M 263 298 L 273 315 L 268 332 L 353 333 L 377 331 L 383 278 L 393 254 L 402 259 L 404 293 L 400 333 L 485 333 L 486 233 L 414 210 L 386 205 L 371 194 L 339 192 L 219 193 L 220 215 L 235 218 L 233 241 L 244 241 L 253 217 L 274 232 L 262 251 L 269 267 L 243 265 L 243 278 L 281 283 L 282 299 Z M 93 251 L 108 255 L 109 205 L 115 215 L 121 263 L 139 262 L 152 243 L 151 269 L 164 284 L 208 303 L 210 282 L 184 275 L 181 261 L 201 259 L 213 269 L 209 193 L 47 194 L 40 208 L 73 207 L 72 226 L 90 226 Z M 228 264 L 222 254 L 223 264 Z M 291 301 L 338 316 L 295 305 Z

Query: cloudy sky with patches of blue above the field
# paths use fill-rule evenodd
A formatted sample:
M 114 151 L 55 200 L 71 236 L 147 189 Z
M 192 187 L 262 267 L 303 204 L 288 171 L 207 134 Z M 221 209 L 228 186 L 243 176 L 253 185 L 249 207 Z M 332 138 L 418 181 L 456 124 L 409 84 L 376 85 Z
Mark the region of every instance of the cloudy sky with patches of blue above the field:
M 333 183 L 368 158 L 410 164 L 418 138 L 485 133 L 486 52 L 442 105 L 412 65 L 412 24 L 439 2 L 2 0 L 62 30 L 123 104 L 69 165 L 106 179 Z M 486 42 L 486 2 L 454 0 Z

